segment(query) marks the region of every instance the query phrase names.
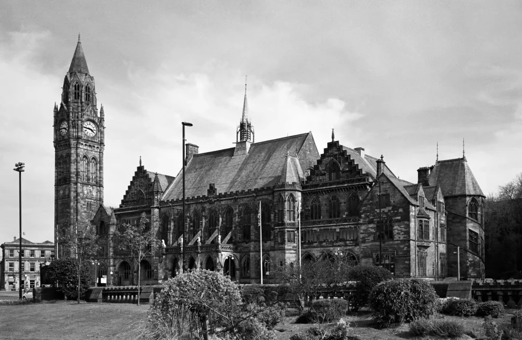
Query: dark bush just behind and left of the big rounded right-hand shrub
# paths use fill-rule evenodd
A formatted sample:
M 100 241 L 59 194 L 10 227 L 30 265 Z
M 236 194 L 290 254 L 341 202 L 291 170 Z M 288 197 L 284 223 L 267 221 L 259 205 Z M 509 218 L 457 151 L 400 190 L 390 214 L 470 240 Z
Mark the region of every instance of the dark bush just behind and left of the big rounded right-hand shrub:
M 368 302 L 368 296 L 372 292 L 373 287 L 383 281 L 392 280 L 392 273 L 386 269 L 375 266 L 359 264 L 352 266 L 348 270 L 348 277 L 351 281 L 356 281 L 355 288 L 355 300 L 353 309 L 357 310 L 362 306 L 365 306 Z

